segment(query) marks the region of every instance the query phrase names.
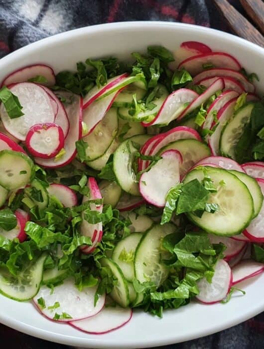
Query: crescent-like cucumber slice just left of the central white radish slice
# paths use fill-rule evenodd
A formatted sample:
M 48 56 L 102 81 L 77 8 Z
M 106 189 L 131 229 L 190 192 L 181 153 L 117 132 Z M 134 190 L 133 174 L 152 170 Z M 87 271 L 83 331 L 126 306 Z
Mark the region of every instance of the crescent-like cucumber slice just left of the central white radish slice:
M 114 153 L 113 170 L 119 185 L 123 190 L 135 196 L 139 196 L 140 192 L 132 166 L 134 162 L 134 153 L 139 150 L 135 148 L 133 144 L 136 143 L 141 147 L 149 138 L 150 136 L 148 135 L 138 135 L 128 138 L 121 143 Z

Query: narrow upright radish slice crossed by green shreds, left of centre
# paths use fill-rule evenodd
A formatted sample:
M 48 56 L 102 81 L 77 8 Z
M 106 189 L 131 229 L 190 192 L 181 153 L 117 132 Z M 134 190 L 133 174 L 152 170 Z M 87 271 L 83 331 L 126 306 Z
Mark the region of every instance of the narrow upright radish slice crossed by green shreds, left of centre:
M 94 177 L 89 177 L 87 182 L 87 187 L 89 188 L 89 197 L 84 196 L 83 197 L 83 203 L 87 202 L 88 200 L 95 200 L 95 199 L 102 199 L 102 195 L 99 189 L 99 186 L 96 182 L 96 179 Z M 95 203 L 90 203 L 90 208 L 93 211 L 98 211 L 99 213 L 103 212 L 103 205 L 99 204 L 96 205 Z M 84 214 L 82 213 L 82 222 L 81 222 L 81 228 L 80 228 L 81 234 L 84 236 L 90 236 L 92 240 L 91 246 L 82 246 L 82 252 L 83 253 L 91 253 L 95 249 L 97 243 L 99 243 L 102 239 L 101 232 L 103 231 L 103 224 L 102 222 L 91 224 L 88 223 L 84 219 Z

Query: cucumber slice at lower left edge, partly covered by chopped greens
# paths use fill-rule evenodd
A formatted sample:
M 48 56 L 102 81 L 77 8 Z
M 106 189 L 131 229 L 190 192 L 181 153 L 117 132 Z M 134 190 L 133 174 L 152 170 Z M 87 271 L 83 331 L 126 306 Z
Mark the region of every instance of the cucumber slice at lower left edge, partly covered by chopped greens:
M 0 293 L 19 302 L 33 298 L 40 287 L 46 257 L 44 253 L 33 263 L 26 265 L 17 278 L 1 268 Z

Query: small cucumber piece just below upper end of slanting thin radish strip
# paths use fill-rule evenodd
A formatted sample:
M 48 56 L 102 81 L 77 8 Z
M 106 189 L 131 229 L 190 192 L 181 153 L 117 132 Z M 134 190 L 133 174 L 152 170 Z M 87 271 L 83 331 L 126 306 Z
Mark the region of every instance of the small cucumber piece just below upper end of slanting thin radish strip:
M 118 94 L 112 106 L 125 108 L 132 107 L 134 94 L 136 95 L 136 100 L 139 101 L 144 98 L 146 90 L 137 87 L 135 84 L 131 84 Z

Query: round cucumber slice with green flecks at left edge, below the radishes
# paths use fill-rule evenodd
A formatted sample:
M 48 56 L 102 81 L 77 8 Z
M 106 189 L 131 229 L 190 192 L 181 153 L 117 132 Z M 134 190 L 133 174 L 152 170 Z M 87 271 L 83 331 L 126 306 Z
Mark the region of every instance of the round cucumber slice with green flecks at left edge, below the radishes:
M 7 190 L 24 187 L 35 175 L 32 160 L 23 153 L 0 151 L 0 185 Z

